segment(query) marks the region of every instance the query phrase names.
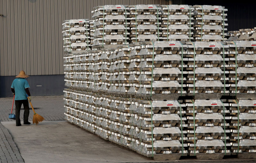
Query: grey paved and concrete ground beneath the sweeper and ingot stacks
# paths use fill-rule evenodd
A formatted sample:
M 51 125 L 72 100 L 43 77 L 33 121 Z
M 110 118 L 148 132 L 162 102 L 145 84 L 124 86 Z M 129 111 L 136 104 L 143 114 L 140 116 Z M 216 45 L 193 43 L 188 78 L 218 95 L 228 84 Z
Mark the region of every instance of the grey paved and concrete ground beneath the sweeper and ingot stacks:
M 30 110 L 29 121 L 31 125 L 23 125 L 23 110 L 21 110 L 22 126 L 17 127 L 15 121 L 8 118 L 8 114 L 11 112 L 12 98 L 0 98 L 1 163 L 256 162 L 255 159 L 237 158 L 154 161 L 64 121 L 63 96 L 32 96 L 31 102 L 33 107 L 36 108 L 36 113 L 42 115 L 45 121 L 38 125 L 32 124 L 33 111 Z

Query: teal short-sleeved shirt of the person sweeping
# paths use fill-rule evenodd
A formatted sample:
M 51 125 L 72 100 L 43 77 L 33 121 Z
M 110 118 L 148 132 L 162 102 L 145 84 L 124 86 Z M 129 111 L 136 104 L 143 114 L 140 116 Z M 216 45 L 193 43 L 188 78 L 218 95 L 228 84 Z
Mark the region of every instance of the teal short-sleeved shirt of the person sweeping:
M 30 88 L 28 81 L 24 78 L 16 78 L 12 82 L 11 88 L 15 90 L 14 100 L 28 100 L 25 88 Z

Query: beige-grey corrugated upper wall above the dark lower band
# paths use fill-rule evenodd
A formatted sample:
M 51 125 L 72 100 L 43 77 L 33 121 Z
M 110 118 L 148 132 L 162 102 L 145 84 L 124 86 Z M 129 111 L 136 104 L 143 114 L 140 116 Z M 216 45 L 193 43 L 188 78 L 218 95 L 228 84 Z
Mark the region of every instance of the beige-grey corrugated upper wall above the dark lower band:
M 168 4 L 166 0 L 0 0 L 0 76 L 63 74 L 61 24 L 90 19 L 105 4 Z

